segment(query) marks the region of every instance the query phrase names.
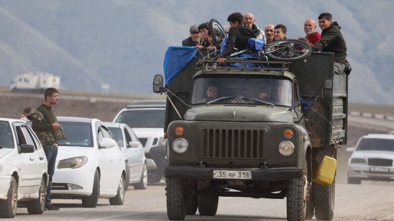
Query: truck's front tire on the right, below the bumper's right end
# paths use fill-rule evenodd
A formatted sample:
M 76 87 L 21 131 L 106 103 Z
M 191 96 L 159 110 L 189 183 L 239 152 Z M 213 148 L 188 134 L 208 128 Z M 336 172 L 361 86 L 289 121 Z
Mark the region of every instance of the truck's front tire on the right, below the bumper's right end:
M 288 183 L 286 206 L 287 220 L 305 220 L 308 201 L 308 170 L 304 164 L 304 176 L 300 179 L 292 179 Z

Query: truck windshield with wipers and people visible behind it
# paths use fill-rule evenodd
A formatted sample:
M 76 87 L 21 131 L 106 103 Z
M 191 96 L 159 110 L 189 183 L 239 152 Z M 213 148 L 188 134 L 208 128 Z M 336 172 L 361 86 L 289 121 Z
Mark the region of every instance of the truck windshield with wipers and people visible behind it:
M 274 78 L 244 76 L 198 78 L 194 80 L 191 104 L 213 101 L 212 104 L 274 104 L 290 107 L 292 106 L 291 85 L 287 79 Z M 218 100 L 215 101 L 216 99 Z

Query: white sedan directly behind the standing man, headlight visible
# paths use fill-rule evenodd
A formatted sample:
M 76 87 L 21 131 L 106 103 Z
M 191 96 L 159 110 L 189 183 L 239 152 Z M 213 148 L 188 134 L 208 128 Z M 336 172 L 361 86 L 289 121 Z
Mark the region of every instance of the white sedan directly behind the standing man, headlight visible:
M 82 199 L 95 207 L 98 198 L 122 205 L 125 196 L 125 158 L 109 129 L 97 119 L 58 117 L 66 139 L 58 140 L 52 198 Z

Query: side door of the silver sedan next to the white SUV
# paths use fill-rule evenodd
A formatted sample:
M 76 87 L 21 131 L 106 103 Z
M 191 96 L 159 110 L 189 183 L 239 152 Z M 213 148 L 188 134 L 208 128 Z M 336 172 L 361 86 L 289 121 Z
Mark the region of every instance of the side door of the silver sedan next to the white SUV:
M 131 152 L 131 158 L 132 158 L 132 164 L 130 164 L 130 174 L 131 171 L 133 171 L 135 180 L 140 180 L 141 174 L 142 174 L 142 166 L 143 166 L 143 150 L 142 150 L 142 144 L 139 142 L 137 136 L 134 134 L 134 132 L 131 130 L 130 127 L 125 128 L 125 134 L 128 134 L 130 137 L 130 141 L 136 141 L 138 142 L 138 147 L 137 148 L 128 148 L 128 151 Z

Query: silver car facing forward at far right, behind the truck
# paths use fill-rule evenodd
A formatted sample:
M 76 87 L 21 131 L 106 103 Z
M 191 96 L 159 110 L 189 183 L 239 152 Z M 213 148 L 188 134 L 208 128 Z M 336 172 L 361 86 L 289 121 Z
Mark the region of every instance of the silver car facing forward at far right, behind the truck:
M 394 180 L 394 135 L 368 134 L 362 136 L 349 158 L 348 183 L 361 180 Z

